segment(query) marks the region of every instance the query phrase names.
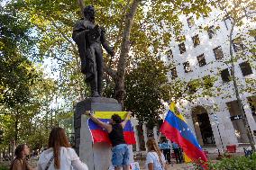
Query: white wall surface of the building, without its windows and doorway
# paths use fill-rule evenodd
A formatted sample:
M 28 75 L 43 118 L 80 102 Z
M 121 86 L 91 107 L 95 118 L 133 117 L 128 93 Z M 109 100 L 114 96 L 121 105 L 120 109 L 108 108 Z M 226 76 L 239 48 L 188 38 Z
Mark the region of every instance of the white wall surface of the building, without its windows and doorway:
M 223 139 L 224 148 L 226 145 L 237 144 L 237 139 L 234 134 L 233 124 L 232 124 L 232 121 L 230 120 L 230 113 L 226 106 L 227 102 L 236 100 L 235 94 L 233 91 L 233 82 L 230 81 L 229 83 L 223 83 L 222 78 L 219 74 L 220 70 L 225 69 L 227 67 L 229 68 L 231 67 L 230 64 L 224 63 L 225 61 L 228 61 L 230 59 L 229 41 L 228 41 L 228 35 L 230 32 L 230 21 L 227 21 L 227 24 L 228 24 L 227 26 L 229 30 L 227 30 L 224 21 L 217 21 L 223 16 L 224 16 L 224 13 L 217 10 L 215 10 L 213 13 L 210 13 L 209 17 L 207 18 L 200 17 L 197 20 L 196 17 L 194 16 L 194 21 L 196 24 L 192 28 L 188 28 L 187 26 L 188 16 L 187 17 L 180 16 L 180 21 L 183 22 L 184 24 L 183 33 L 184 35 L 186 35 L 185 44 L 186 44 L 187 50 L 185 53 L 180 54 L 178 49 L 179 42 L 176 42 L 175 40 L 171 40 L 169 49 L 172 50 L 174 57 L 170 60 L 166 56 L 163 58 L 167 65 L 172 64 L 176 67 L 178 78 L 181 78 L 186 82 L 193 79 L 202 78 L 203 76 L 217 76 L 217 81 L 215 82 L 214 87 L 212 87 L 212 90 L 216 92 L 216 89 L 220 88 L 219 96 L 211 97 L 211 98 L 198 98 L 197 100 L 195 100 L 195 103 L 193 104 L 186 103 L 183 105 L 181 104 L 183 107 L 180 107 L 180 109 L 183 108 L 182 112 L 184 112 L 187 115 L 187 118 L 188 118 L 187 123 L 189 124 L 191 129 L 194 130 L 195 132 L 194 124 L 191 117 L 192 109 L 197 105 L 205 106 L 206 111 L 209 114 L 209 119 L 212 125 L 212 130 L 214 132 L 217 148 L 221 148 L 221 141 L 219 137 L 219 132 L 217 130 L 217 124 L 215 122 L 214 114 L 217 116 L 219 121 L 218 128 L 220 130 L 220 133 Z M 216 34 L 213 39 L 209 39 L 207 31 L 198 29 L 199 26 L 206 27 L 206 25 L 207 26 L 215 25 L 220 27 L 220 29 L 216 31 Z M 251 28 L 255 29 L 256 23 L 255 22 L 251 23 L 250 26 Z M 234 29 L 233 38 L 235 38 L 236 34 L 239 31 L 241 30 L 238 28 Z M 242 28 L 242 31 L 245 32 L 246 29 Z M 192 37 L 197 34 L 199 35 L 200 45 L 194 48 Z M 254 38 L 252 37 L 249 39 L 254 40 Z M 224 58 L 216 60 L 213 49 L 215 49 L 218 46 L 222 47 Z M 205 54 L 206 66 L 199 67 L 197 56 L 199 56 L 202 53 Z M 245 78 L 256 78 L 255 60 L 252 63 L 250 63 L 253 74 L 249 76 L 242 76 L 242 71 L 241 71 L 241 68 L 239 67 L 239 64 L 245 60 L 246 58 L 240 58 L 235 63 L 235 76 L 239 78 L 238 85 L 240 85 L 240 89 L 246 87 Z M 189 61 L 192 72 L 185 73 L 183 63 L 186 61 Z M 169 76 L 169 81 L 173 81 L 171 80 L 170 72 L 168 76 Z M 242 103 L 244 105 L 244 111 L 247 115 L 247 119 L 251 127 L 251 131 L 256 130 L 256 123 L 251 115 L 251 109 L 246 99 L 252 94 L 242 93 L 240 95 L 241 95 Z M 214 109 L 215 107 L 214 104 L 217 105 L 217 111 Z

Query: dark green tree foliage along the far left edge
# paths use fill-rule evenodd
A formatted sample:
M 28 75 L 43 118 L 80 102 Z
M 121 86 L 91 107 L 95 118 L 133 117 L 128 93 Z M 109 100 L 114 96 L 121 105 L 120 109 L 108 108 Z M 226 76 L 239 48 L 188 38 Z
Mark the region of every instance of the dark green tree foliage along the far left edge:
M 28 87 L 35 75 L 32 63 L 23 54 L 29 53 L 33 38 L 25 15 L 8 6 L 0 8 L 0 102 L 13 107 L 26 102 L 30 95 Z

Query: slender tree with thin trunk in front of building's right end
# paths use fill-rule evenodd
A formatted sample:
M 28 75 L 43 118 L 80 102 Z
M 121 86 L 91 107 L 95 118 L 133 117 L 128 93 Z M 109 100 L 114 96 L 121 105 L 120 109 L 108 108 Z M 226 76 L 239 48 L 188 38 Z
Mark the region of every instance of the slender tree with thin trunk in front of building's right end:
M 255 39 L 251 39 L 253 36 L 253 28 L 251 23 L 255 22 L 255 2 L 247 0 L 233 0 L 233 1 L 219 1 L 216 6 L 220 7 L 225 12 L 225 18 L 229 18 L 231 21 L 230 32 L 227 37 L 227 43 L 229 45 L 231 64 L 231 79 L 233 81 L 233 88 L 235 97 L 237 99 L 239 112 L 242 115 L 242 122 L 246 128 L 247 137 L 251 144 L 251 148 L 255 151 L 255 142 L 253 140 L 249 124 L 243 110 L 241 95 L 244 92 L 255 93 L 255 80 L 246 78 L 246 87 L 240 85 L 240 80 L 236 76 L 234 65 L 239 58 L 245 58 L 248 62 L 255 61 Z M 234 31 L 236 29 L 236 32 Z M 255 28 L 254 28 L 255 29 Z M 255 34 L 254 34 L 255 35 Z M 238 48 L 238 49 L 234 49 Z M 240 50 L 242 49 L 242 50 Z M 237 50 L 236 53 L 233 50 Z M 252 64 L 253 67 L 255 67 Z M 247 87 L 248 86 L 248 87 Z M 252 89 L 251 89 L 252 88 Z

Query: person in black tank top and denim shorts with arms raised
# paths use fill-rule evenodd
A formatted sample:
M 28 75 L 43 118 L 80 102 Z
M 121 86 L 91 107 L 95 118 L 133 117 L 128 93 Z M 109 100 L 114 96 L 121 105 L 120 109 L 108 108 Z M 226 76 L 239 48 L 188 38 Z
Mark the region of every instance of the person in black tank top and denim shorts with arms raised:
M 100 127 L 104 128 L 108 132 L 110 141 L 112 142 L 112 165 L 114 170 L 129 170 L 129 148 L 123 138 L 123 128 L 126 122 L 131 117 L 131 112 L 128 112 L 124 121 L 117 114 L 112 115 L 111 122 L 105 123 L 99 121 L 91 112 L 86 112 L 90 116 L 92 121 L 95 121 Z

